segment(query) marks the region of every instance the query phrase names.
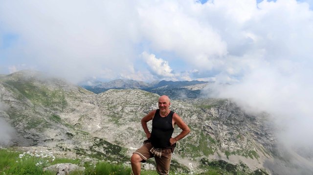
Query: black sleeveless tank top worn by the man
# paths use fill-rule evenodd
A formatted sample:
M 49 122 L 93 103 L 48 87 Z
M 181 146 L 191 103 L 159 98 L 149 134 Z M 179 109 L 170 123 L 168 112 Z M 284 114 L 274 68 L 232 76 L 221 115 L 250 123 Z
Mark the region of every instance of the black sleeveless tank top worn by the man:
M 152 119 L 151 143 L 155 148 L 169 148 L 171 147 L 170 138 L 172 137 L 174 128 L 172 118 L 174 112 L 171 111 L 166 117 L 161 117 L 159 109 Z

